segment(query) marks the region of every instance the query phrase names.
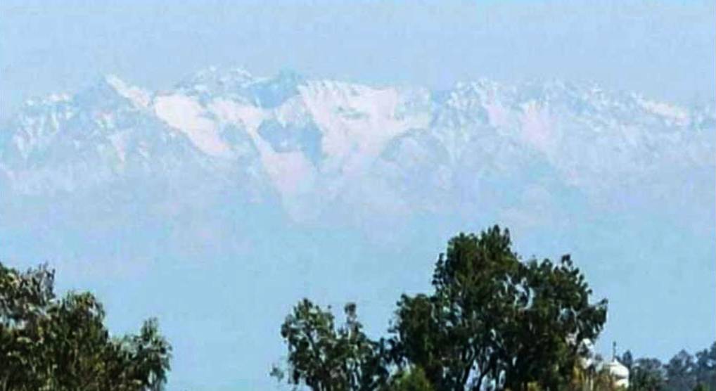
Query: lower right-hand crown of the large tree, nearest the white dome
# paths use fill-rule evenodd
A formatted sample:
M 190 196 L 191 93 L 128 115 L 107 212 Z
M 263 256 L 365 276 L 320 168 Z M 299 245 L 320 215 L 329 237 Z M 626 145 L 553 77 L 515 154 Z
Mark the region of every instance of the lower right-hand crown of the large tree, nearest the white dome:
M 592 291 L 569 255 L 553 264 L 529 261 L 520 288 L 517 316 L 505 330 L 505 385 L 523 390 L 529 382 L 557 390 L 566 382 L 583 352 L 580 342 L 594 340 L 606 322 L 606 300 L 589 303 Z

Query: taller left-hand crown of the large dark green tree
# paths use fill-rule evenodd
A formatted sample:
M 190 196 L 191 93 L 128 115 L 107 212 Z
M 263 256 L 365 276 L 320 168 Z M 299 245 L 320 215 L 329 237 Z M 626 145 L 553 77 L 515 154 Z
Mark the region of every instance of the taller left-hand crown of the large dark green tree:
M 480 390 L 499 381 L 498 349 L 503 330 L 516 317 L 520 264 L 508 233 L 493 228 L 480 236 L 463 234 L 440 254 L 431 295 L 403 295 L 390 330 L 398 365 L 425 370 L 437 390 Z

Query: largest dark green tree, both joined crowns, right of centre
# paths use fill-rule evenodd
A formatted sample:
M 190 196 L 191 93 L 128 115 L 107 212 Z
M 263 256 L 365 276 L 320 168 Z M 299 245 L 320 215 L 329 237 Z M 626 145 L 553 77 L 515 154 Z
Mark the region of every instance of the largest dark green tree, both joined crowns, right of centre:
M 423 368 L 437 390 L 556 390 L 579 342 L 596 339 L 606 321 L 606 301 L 590 304 L 569 256 L 522 263 L 498 226 L 451 239 L 432 286 L 398 301 L 390 344 L 397 365 Z

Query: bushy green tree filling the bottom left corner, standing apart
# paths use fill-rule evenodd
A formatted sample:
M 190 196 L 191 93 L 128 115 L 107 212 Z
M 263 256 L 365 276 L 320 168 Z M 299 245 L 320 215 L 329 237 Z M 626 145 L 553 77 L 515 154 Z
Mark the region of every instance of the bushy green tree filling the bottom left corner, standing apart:
M 160 390 L 171 347 L 156 321 L 112 338 L 89 293 L 54 294 L 47 266 L 0 264 L 0 390 Z

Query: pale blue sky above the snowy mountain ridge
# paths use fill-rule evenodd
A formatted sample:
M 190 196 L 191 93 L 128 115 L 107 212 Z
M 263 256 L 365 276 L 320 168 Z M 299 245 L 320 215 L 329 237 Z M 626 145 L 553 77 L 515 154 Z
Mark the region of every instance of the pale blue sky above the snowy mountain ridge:
M 712 1 L 16 1 L 0 3 L 0 118 L 102 74 L 157 90 L 210 65 L 443 88 L 593 81 L 714 100 Z

